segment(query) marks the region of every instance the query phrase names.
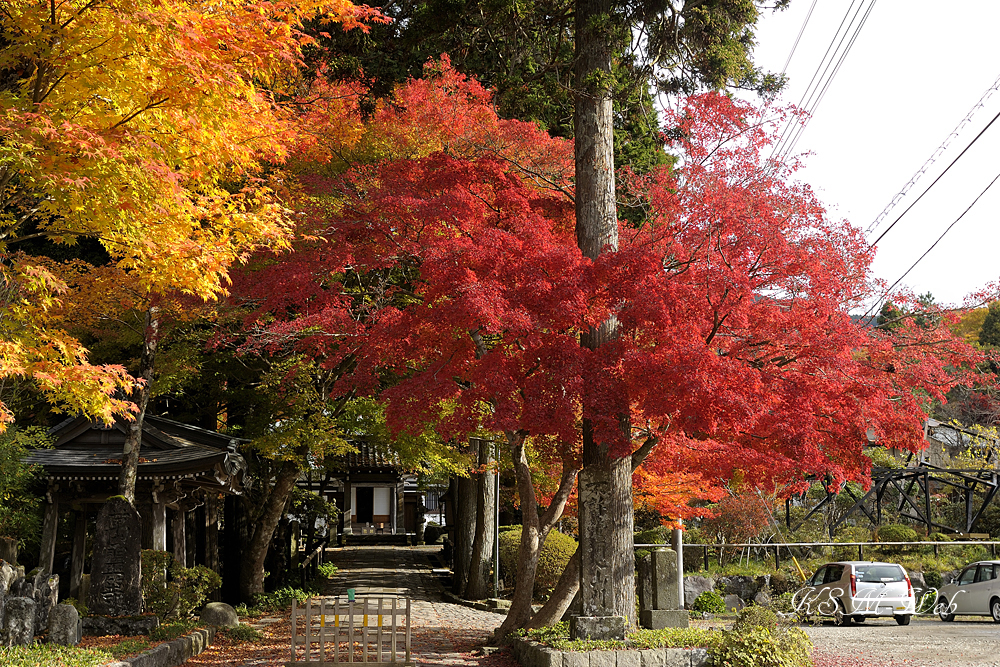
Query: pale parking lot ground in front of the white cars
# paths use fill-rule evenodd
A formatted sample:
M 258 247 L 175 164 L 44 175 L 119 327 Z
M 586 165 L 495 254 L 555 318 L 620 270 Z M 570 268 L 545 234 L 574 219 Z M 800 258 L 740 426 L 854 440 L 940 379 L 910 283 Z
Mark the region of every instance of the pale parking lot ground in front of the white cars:
M 816 647 L 817 665 L 1000 667 L 1000 625 L 988 619 L 942 623 L 914 618 L 906 626 L 868 620 L 837 627 L 803 625 Z

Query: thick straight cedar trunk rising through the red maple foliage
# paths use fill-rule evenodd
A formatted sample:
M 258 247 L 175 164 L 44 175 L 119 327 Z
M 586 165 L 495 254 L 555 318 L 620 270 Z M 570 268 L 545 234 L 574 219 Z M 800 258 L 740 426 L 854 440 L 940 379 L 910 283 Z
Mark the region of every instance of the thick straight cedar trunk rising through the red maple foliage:
M 612 84 L 614 17 L 610 0 L 576 0 L 577 95 L 576 235 L 581 252 L 596 259 L 618 249 L 615 205 Z M 617 335 L 609 318 L 581 336 L 596 350 Z M 628 437 L 627 397 L 618 393 L 622 429 Z M 580 595 L 584 616 L 624 616 L 635 621 L 635 571 L 632 555 L 632 475 L 628 458 L 612 455 L 594 438 L 593 400 L 585 397 L 583 465 L 580 473 Z M 608 409 L 607 407 L 605 409 Z

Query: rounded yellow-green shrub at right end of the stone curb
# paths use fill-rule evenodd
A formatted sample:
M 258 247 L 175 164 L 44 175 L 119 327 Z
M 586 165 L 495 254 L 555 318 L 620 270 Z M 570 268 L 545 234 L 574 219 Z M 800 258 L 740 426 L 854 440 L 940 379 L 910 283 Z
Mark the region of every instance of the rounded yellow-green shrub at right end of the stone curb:
M 709 653 L 716 667 L 811 667 L 811 649 L 805 632 L 751 605 L 740 612 L 732 630 L 722 631 Z

